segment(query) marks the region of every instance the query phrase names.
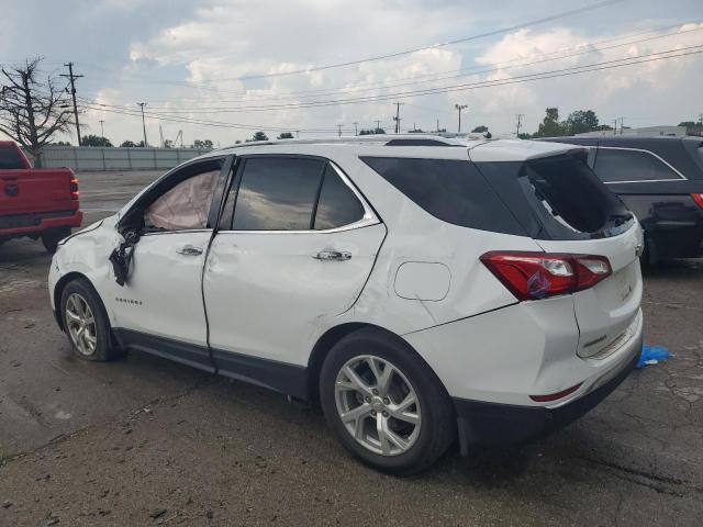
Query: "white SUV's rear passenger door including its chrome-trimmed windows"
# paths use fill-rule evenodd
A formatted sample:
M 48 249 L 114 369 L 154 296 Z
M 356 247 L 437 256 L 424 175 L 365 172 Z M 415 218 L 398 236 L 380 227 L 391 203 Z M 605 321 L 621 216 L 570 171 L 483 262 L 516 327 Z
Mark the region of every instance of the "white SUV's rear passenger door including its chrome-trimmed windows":
M 326 159 L 243 157 L 231 187 L 203 277 L 213 359 L 232 377 L 248 358 L 305 366 L 360 294 L 386 227 Z

